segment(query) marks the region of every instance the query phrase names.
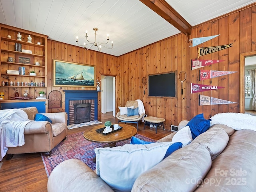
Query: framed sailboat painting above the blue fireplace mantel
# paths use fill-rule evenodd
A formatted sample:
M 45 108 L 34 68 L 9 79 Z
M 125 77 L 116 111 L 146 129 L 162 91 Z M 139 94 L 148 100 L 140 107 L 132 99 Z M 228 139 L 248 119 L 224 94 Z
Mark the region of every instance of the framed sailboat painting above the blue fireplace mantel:
M 53 86 L 95 87 L 95 66 L 53 60 Z

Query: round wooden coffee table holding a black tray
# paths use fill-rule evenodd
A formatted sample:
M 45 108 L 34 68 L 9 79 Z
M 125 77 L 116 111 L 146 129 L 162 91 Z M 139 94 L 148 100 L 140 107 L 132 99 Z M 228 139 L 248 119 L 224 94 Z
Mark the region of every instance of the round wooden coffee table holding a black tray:
M 130 139 L 137 134 L 137 129 L 134 126 L 127 124 L 120 124 L 123 127 L 121 130 L 104 135 L 96 132 L 96 129 L 105 127 L 103 125 L 94 126 L 92 129 L 84 132 L 84 138 L 91 142 L 107 143 L 108 147 L 116 146 L 116 142 Z

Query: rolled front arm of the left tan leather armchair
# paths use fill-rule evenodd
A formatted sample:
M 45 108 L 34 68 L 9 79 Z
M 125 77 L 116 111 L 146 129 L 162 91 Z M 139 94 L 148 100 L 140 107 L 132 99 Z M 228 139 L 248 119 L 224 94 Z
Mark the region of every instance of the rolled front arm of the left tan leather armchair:
M 48 121 L 31 121 L 26 124 L 24 134 L 46 134 L 52 132 L 52 125 Z

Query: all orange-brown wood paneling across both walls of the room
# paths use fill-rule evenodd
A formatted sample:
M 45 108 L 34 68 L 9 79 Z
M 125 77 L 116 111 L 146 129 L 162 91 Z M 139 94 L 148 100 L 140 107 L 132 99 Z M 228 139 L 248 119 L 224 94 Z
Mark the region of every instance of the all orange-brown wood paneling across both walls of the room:
M 240 54 L 256 51 L 256 6 L 232 12 L 215 20 L 205 22 L 192 29 L 190 39 L 203 36 L 220 36 L 209 40 L 196 47 L 189 47 L 184 34 L 178 34 L 159 42 L 134 50 L 116 57 L 95 51 L 85 51 L 83 48 L 48 40 L 48 81 L 47 95 L 52 90 L 62 93 L 62 108 L 49 109 L 48 112 L 64 111 L 64 92 L 62 90 L 79 90 L 74 87 L 52 86 L 52 60 L 64 60 L 96 66 L 96 79 L 101 75 L 116 76 L 116 111 L 118 106 L 124 106 L 127 100 L 140 99 L 144 103 L 146 114 L 165 118 L 165 126 L 178 125 L 181 120 L 190 120 L 195 115 L 204 113 L 205 118 L 222 112 L 239 112 L 240 86 Z M 199 81 L 199 70 L 191 70 L 191 59 L 197 59 L 198 47 L 219 46 L 232 43 L 232 47 L 200 57 L 200 60 L 225 60 L 204 70 L 237 71 L 234 74 Z M 202 69 L 202 68 L 201 68 Z M 181 95 L 181 83 L 177 79 L 177 98 L 152 98 L 148 97 L 148 84 L 146 94 L 143 94 L 142 78 L 148 74 L 162 72 L 185 71 L 187 79 L 183 84 L 184 93 Z M 212 106 L 199 106 L 199 93 L 190 94 L 190 83 L 223 86 L 220 90 L 201 92 L 200 94 L 212 96 L 237 104 L 223 104 Z M 96 88 L 86 88 L 96 90 Z M 100 93 L 98 100 L 98 119 L 100 119 Z

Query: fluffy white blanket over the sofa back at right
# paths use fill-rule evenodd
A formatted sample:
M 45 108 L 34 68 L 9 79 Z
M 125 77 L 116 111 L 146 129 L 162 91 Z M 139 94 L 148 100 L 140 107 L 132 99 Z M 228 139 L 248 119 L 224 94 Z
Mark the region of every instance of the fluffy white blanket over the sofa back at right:
M 244 113 L 218 113 L 211 117 L 210 126 L 224 124 L 234 130 L 249 129 L 256 131 L 256 116 Z

